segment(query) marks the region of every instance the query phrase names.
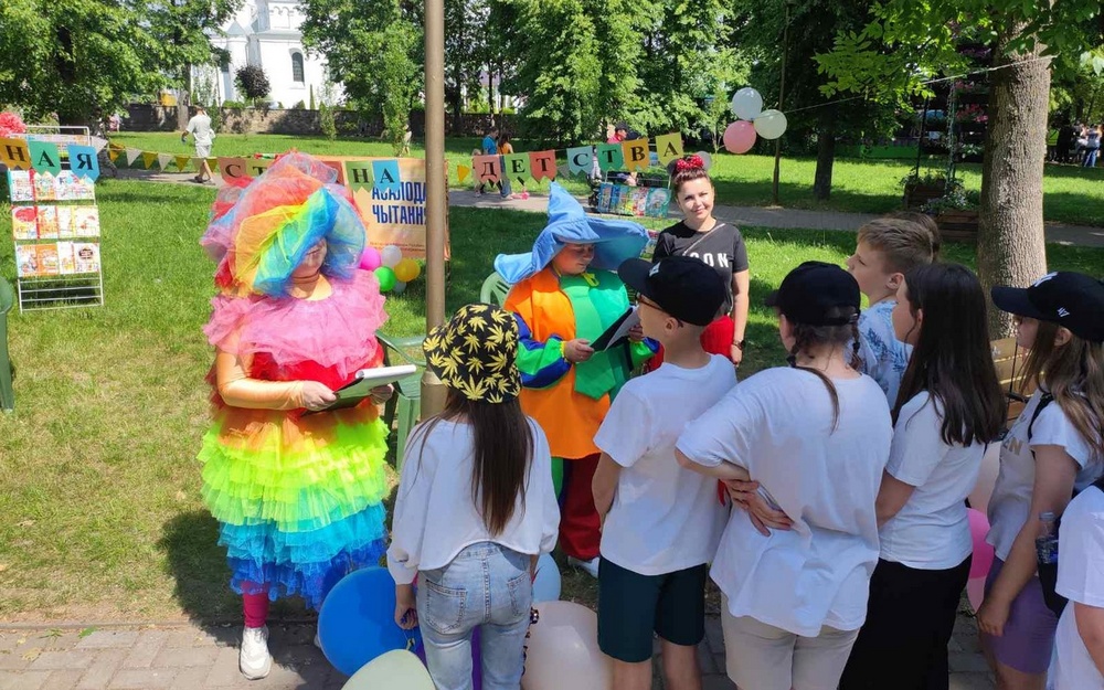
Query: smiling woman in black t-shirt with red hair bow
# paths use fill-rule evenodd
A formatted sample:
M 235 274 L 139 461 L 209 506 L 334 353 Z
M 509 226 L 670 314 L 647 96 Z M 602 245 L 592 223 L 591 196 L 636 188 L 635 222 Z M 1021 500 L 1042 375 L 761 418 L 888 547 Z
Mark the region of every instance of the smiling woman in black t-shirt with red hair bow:
M 705 327 L 701 344 L 707 352 L 723 354 L 739 365 L 744 355 L 744 330 L 747 328 L 747 250 L 740 231 L 713 217 L 713 181 L 699 156 L 675 161 L 671 180 L 675 200 L 683 219 L 659 233 L 652 261 L 667 256 L 693 256 L 711 266 L 729 288 L 729 298 L 716 320 Z M 650 368 L 662 363 L 662 350 Z

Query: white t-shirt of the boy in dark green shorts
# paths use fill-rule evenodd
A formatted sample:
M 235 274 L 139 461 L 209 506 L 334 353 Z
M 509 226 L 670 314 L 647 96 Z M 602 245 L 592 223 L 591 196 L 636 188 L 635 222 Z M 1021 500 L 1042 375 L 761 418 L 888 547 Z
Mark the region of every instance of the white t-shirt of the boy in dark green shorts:
M 622 466 L 602 529 L 602 558 L 641 575 L 709 563 L 728 509 L 716 480 L 683 469 L 675 442 L 736 385 L 728 358 L 700 369 L 665 363 L 617 394 L 594 443 Z

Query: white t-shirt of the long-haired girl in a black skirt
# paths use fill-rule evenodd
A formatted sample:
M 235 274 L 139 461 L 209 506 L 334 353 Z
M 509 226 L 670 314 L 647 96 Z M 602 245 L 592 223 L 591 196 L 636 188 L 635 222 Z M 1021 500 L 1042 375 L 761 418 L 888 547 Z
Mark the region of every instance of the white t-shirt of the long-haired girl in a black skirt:
M 966 560 L 974 545 L 964 501 L 983 455 L 983 443 L 943 442 L 943 405 L 927 391 L 901 407 L 885 471 L 916 489 L 882 526 L 881 558 L 919 570 L 947 570 Z

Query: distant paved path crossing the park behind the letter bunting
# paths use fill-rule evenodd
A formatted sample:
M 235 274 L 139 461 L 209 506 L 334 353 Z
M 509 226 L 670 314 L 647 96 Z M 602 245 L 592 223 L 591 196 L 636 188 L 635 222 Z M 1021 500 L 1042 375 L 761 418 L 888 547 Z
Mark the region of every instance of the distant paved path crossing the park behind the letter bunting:
M 146 170 L 119 170 L 120 178 L 140 179 L 151 182 L 177 182 L 194 184 L 191 173 L 149 172 Z M 222 184 L 222 178 L 215 177 L 215 184 Z M 512 209 L 544 213 L 548 211 L 548 197 L 531 195 L 529 199 L 502 199 L 498 193 L 477 194 L 468 189 L 453 189 L 448 192 L 448 203 L 453 206 L 471 206 L 477 209 Z M 869 220 L 878 217 L 873 213 L 845 213 L 841 211 L 804 211 L 800 209 L 783 209 L 781 206 L 716 206 L 714 215 L 736 225 L 755 227 L 807 227 L 811 230 L 850 231 L 854 232 Z M 678 209 L 670 217 L 680 219 Z M 1104 227 L 1084 225 L 1066 225 L 1048 222 L 1045 226 L 1047 242 L 1104 247 Z

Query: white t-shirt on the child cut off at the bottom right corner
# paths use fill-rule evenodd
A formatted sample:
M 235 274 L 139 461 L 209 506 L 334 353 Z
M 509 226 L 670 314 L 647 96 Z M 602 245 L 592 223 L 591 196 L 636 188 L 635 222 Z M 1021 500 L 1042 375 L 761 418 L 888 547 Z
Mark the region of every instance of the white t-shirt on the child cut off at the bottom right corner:
M 1070 604 L 1058 622 L 1051 679 L 1054 690 L 1104 690 L 1073 611 L 1074 602 L 1104 608 L 1104 491 L 1089 488 L 1070 501 L 1059 539 L 1055 590 Z

